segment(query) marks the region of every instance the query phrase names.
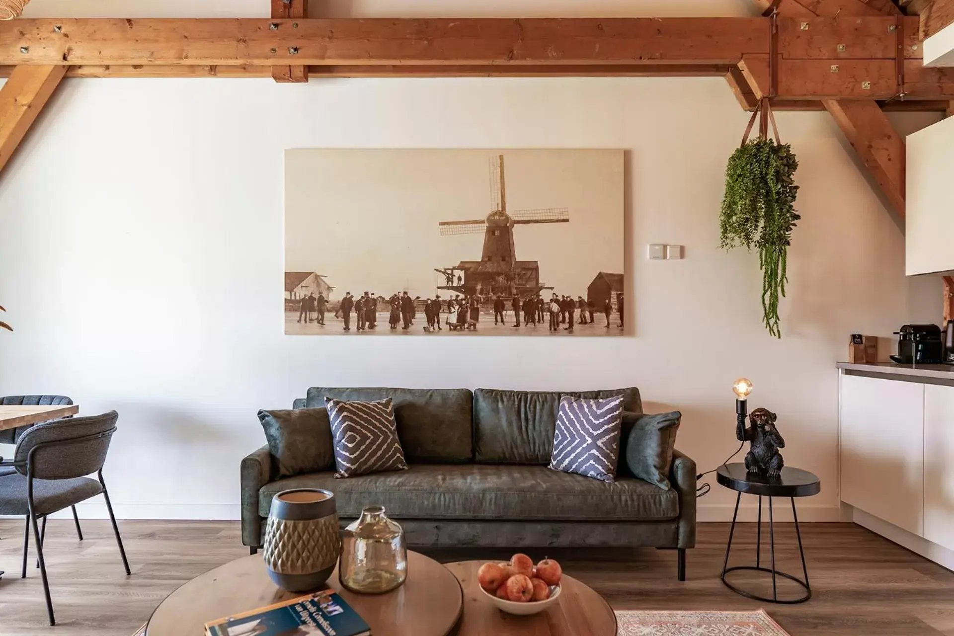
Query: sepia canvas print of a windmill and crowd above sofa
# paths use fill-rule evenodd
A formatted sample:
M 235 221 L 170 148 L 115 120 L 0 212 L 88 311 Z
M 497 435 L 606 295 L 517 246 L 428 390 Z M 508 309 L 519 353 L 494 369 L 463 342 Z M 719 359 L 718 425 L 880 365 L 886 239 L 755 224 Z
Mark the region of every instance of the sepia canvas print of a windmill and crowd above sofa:
M 290 150 L 289 335 L 620 336 L 623 152 Z

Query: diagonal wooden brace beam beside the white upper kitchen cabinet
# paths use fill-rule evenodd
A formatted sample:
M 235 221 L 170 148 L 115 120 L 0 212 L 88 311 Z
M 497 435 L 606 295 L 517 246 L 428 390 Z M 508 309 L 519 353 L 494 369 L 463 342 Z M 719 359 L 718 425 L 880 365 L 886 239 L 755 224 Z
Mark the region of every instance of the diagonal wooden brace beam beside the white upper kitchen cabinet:
M 904 139 L 896 133 L 872 100 L 825 100 L 861 162 L 881 186 L 881 192 L 904 217 Z

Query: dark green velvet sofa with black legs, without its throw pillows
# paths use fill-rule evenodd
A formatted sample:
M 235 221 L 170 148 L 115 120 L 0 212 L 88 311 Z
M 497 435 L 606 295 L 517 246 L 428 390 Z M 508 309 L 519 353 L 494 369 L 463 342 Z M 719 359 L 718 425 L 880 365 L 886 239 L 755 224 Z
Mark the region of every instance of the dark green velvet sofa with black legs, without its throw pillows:
M 695 545 L 695 462 L 674 452 L 671 487 L 636 479 L 621 459 L 615 483 L 550 470 L 561 396 L 624 395 L 624 411 L 641 414 L 636 388 L 584 392 L 496 389 L 321 388 L 294 408 L 323 408 L 325 397 L 394 404 L 398 437 L 410 469 L 334 479 L 334 466 L 276 479 L 267 445 L 241 462 L 241 536 L 261 545 L 272 497 L 289 488 L 335 493 L 342 524 L 381 504 L 419 546 L 625 546 L 678 551 Z M 625 425 L 620 458 L 626 457 Z M 630 424 L 632 427 L 632 424 Z M 333 458 L 330 427 L 314 443 Z

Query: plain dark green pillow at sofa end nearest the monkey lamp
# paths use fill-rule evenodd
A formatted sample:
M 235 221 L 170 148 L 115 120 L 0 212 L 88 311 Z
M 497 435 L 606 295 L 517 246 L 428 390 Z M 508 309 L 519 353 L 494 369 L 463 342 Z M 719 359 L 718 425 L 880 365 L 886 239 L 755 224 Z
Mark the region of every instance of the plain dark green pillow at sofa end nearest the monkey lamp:
M 624 423 L 633 426 L 626 441 L 626 463 L 634 477 L 669 490 L 669 468 L 681 420 L 682 414 L 678 411 L 658 415 L 623 414 Z

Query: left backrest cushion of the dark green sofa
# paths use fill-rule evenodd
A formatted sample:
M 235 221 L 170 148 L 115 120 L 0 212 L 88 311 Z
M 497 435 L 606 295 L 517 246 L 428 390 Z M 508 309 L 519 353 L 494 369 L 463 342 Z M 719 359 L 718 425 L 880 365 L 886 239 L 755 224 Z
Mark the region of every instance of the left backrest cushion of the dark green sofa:
M 472 402 L 467 389 L 323 388 L 308 389 L 305 406 L 324 406 L 325 398 L 378 401 L 390 398 L 398 437 L 408 462 L 464 463 L 472 453 Z

